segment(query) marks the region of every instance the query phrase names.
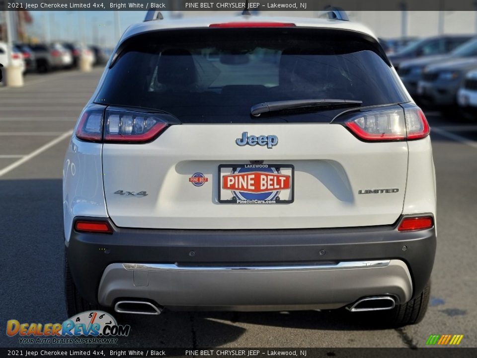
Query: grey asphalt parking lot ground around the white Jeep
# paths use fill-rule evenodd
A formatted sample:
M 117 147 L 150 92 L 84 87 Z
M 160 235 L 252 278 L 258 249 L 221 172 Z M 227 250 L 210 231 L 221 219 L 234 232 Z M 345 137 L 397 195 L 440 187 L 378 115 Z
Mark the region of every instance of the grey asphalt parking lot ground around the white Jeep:
M 0 329 L 6 321 L 63 322 L 62 164 L 101 69 L 30 75 L 0 89 Z M 462 334 L 477 347 L 477 121 L 428 112 L 437 176 L 438 249 L 423 322 L 376 330 L 336 312 L 129 316 L 123 347 L 424 347 L 430 334 Z M 84 264 L 87 265 L 87 258 Z M 3 328 L 1 328 L 3 327 Z M 3 331 L 4 332 L 4 331 Z M 0 347 L 18 347 L 0 334 Z

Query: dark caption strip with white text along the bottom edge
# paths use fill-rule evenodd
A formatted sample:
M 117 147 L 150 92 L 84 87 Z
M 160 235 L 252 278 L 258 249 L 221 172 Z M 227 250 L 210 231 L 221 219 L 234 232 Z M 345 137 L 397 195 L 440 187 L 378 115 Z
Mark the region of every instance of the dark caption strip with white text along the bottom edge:
M 0 348 L 0 357 L 460 358 L 477 357 L 477 348 Z

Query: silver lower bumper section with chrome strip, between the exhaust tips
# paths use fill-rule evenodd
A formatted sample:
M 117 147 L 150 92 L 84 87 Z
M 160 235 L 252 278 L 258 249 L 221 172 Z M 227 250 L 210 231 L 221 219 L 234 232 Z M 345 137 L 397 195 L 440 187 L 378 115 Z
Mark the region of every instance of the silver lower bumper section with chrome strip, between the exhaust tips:
M 290 266 L 177 266 L 111 264 L 98 298 L 113 306 L 122 298 L 153 300 L 168 308 L 234 311 L 333 309 L 378 293 L 397 303 L 412 284 L 400 260 Z

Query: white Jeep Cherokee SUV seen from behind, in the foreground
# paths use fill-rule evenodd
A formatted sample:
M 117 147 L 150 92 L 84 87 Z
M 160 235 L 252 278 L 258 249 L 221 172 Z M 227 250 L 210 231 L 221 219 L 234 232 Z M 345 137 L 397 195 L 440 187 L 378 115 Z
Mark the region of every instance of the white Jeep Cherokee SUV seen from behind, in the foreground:
M 347 307 L 405 325 L 426 311 L 429 126 L 349 21 L 130 27 L 79 117 L 63 193 L 70 316 Z

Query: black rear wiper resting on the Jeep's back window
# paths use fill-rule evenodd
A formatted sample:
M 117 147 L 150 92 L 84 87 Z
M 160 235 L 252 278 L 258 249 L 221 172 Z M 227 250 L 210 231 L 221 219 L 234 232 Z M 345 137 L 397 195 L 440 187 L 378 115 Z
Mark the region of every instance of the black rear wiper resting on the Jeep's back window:
M 250 107 L 250 114 L 258 117 L 262 113 L 277 112 L 287 109 L 310 109 L 313 107 L 340 108 L 347 106 L 359 106 L 363 101 L 352 99 L 292 99 L 276 102 L 262 102 Z

